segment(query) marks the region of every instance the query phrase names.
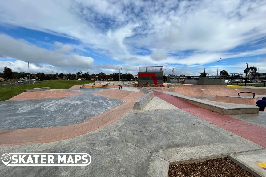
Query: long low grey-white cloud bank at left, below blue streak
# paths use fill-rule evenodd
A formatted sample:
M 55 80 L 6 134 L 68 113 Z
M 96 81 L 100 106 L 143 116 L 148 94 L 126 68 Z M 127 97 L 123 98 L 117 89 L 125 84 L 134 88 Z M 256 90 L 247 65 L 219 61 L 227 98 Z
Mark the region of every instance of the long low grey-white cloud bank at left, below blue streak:
M 53 65 L 61 68 L 90 68 L 93 58 L 80 56 L 72 52 L 69 45 L 56 43 L 55 51 L 39 48 L 23 39 L 14 39 L 10 36 L 0 34 L 0 57 L 14 58 L 30 63 Z

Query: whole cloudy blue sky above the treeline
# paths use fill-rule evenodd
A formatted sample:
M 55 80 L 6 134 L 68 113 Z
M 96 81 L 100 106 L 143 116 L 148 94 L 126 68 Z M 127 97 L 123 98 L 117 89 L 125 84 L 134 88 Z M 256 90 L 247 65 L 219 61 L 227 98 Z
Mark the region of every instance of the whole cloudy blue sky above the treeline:
M 0 1 L 0 72 L 265 72 L 265 1 Z

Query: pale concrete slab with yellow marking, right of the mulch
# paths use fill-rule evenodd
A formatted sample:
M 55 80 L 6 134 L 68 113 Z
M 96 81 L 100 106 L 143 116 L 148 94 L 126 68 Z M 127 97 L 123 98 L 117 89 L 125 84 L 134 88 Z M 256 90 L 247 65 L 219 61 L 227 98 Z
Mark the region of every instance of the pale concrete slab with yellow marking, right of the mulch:
M 228 159 L 256 177 L 265 177 L 265 149 L 228 155 Z M 264 163 L 264 167 L 260 166 Z

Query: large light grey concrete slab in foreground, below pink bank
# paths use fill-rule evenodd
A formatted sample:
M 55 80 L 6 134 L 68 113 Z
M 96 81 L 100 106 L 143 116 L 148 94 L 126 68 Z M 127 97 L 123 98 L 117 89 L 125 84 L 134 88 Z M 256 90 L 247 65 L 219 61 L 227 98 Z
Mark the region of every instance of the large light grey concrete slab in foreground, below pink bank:
M 132 110 L 113 124 L 45 144 L 1 147 L 3 153 L 88 153 L 84 167 L 18 167 L 2 176 L 167 176 L 169 162 L 262 149 L 180 109 Z

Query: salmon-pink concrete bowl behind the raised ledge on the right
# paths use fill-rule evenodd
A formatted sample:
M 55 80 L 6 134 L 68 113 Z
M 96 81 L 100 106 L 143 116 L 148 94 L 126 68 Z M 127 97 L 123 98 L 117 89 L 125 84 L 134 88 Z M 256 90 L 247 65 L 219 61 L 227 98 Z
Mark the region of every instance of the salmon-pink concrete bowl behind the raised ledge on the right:
M 184 96 L 216 102 L 256 105 L 257 100 L 265 96 L 265 89 L 227 88 L 226 85 L 172 85 L 169 88 L 152 88 L 153 90 L 177 92 Z M 252 92 L 255 93 L 253 98 Z M 238 96 L 240 93 L 240 96 Z

